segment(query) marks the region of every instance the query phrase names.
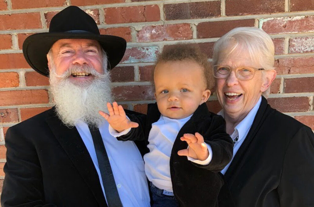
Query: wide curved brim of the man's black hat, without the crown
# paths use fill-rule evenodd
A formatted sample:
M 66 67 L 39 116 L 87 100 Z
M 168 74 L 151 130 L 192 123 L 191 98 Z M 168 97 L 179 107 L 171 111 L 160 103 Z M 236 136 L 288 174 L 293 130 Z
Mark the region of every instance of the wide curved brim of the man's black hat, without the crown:
M 127 43 L 125 39 L 112 35 L 86 33 L 38 33 L 27 37 L 23 43 L 23 54 L 28 64 L 41 75 L 49 77 L 47 53 L 51 46 L 59 39 L 94 39 L 106 51 L 108 70 L 121 61 Z

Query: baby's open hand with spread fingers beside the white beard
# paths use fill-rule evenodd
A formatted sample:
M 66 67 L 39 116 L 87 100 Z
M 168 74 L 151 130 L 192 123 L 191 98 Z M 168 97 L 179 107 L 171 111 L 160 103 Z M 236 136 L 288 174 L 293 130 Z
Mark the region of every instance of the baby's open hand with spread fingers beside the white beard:
M 121 105 L 118 106 L 117 102 L 107 103 L 109 114 L 99 111 L 99 114 L 103 116 L 117 132 L 122 132 L 128 128 L 138 127 L 138 123 L 131 122 L 127 119 L 124 109 Z

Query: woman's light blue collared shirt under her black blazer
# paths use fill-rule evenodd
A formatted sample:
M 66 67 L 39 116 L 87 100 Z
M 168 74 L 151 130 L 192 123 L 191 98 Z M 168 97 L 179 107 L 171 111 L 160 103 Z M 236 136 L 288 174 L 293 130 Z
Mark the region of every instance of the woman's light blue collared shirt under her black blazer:
M 238 152 L 239 148 L 241 147 L 243 141 L 246 138 L 246 135 L 249 133 L 251 126 L 252 126 L 252 123 L 254 121 L 254 118 L 256 116 L 256 113 L 258 111 L 258 108 L 261 105 L 261 102 L 262 102 L 262 97 L 259 98 L 256 105 L 251 109 L 251 111 L 246 115 L 246 117 L 240 123 L 238 123 L 238 125 L 236 125 L 234 132 L 230 135 L 230 137 L 233 140 L 237 136 L 239 136 L 238 141 L 234 144 L 233 156 L 232 156 L 230 163 L 232 162 L 233 158 L 235 157 L 236 153 Z M 219 111 L 217 114 L 225 118 L 225 112 L 223 110 Z M 227 164 L 223 170 L 221 170 L 222 174 L 226 173 L 227 169 L 230 166 L 230 163 Z

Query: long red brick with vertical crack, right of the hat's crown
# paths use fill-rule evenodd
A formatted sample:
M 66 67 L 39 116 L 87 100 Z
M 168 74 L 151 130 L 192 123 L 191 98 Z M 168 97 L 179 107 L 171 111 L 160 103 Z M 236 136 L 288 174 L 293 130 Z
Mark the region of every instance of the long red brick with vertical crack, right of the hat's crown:
M 129 22 L 153 22 L 160 20 L 158 5 L 105 8 L 107 24 Z

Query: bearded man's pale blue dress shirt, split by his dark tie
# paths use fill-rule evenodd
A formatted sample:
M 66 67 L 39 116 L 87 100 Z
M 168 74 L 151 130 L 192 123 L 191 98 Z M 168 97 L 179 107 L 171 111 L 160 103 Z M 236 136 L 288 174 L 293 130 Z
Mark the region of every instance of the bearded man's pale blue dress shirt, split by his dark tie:
M 104 121 L 99 126 L 99 131 L 106 147 L 122 205 L 125 207 L 149 207 L 150 198 L 144 171 L 144 162 L 138 148 L 132 141 L 121 142 L 115 137 L 112 137 L 108 131 L 108 126 L 109 123 Z M 78 122 L 75 127 L 93 160 L 102 191 L 106 198 L 93 139 L 88 125 L 85 122 Z

